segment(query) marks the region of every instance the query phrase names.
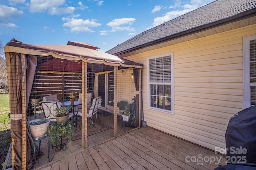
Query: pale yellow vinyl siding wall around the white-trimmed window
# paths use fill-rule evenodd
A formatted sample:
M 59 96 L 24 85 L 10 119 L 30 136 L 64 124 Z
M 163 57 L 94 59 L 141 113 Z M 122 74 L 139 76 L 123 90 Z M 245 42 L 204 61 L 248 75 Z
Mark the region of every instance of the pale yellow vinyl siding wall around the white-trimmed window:
M 243 109 L 243 37 L 256 24 L 126 57 L 144 64 L 147 125 L 209 149 L 225 148 L 232 115 Z M 174 115 L 147 108 L 147 57 L 174 52 Z

